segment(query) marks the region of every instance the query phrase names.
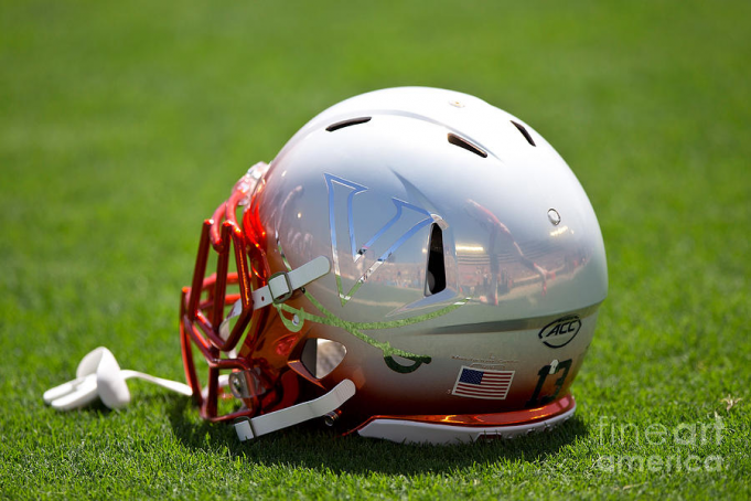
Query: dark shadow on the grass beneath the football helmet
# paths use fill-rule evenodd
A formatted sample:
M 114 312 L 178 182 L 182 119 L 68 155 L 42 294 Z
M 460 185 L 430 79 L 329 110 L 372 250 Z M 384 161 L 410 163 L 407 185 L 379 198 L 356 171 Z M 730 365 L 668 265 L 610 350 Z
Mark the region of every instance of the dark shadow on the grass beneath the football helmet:
M 186 401 L 175 401 L 170 422 L 178 439 L 205 454 L 229 455 L 248 463 L 328 469 L 334 473 L 418 475 L 450 472 L 500 459 L 545 461 L 588 428 L 576 416 L 551 431 L 476 444 L 400 445 L 358 436 L 339 437 L 315 425 L 297 426 L 256 440 L 240 443 L 232 426 L 200 420 Z

